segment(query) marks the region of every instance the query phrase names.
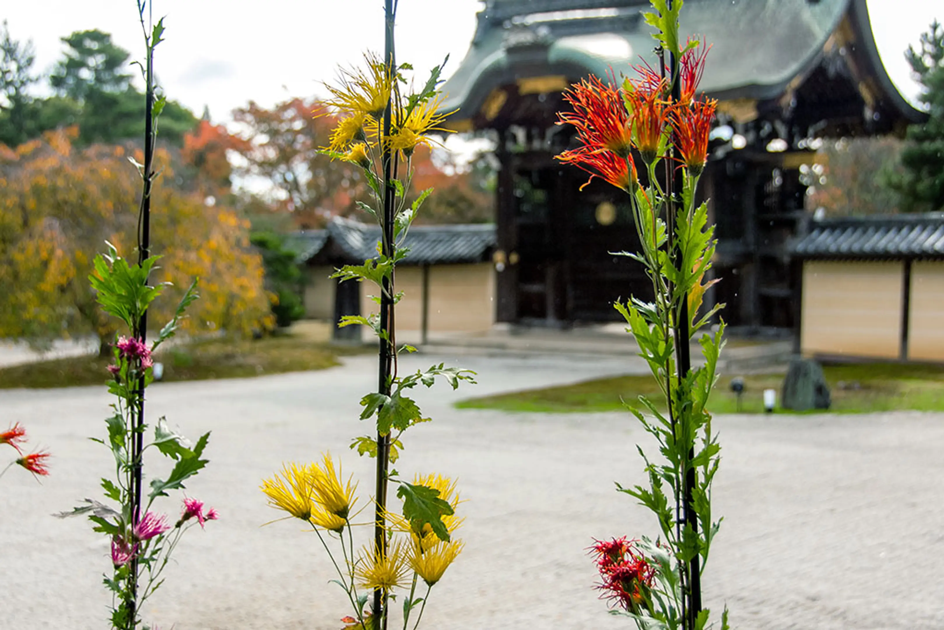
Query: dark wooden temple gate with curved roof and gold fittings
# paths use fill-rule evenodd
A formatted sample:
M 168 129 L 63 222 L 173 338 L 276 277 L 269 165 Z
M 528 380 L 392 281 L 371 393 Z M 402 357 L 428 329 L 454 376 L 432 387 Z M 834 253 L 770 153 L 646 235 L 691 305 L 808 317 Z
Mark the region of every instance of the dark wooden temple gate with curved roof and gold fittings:
M 450 125 L 497 139 L 497 321 L 570 325 L 618 318 L 646 297 L 628 199 L 553 156 L 573 142 L 555 125 L 582 77 L 656 67 L 641 18 L 648 0 L 486 0 L 471 48 L 444 86 Z M 748 330 L 793 328 L 807 220 L 801 165 L 818 139 L 902 133 L 923 114 L 879 59 L 866 0 L 687 0 L 681 30 L 711 44 L 700 90 L 719 100 L 701 194 L 718 247 L 715 295 Z

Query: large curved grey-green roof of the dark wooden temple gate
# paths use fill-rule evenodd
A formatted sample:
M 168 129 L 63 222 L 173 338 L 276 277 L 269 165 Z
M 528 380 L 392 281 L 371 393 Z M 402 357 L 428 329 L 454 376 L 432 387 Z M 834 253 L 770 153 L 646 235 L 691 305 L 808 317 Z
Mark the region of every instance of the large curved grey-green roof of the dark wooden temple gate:
M 529 77 L 603 77 L 611 68 L 618 76 L 640 59 L 654 64 L 652 31 L 640 16 L 648 5 L 487 0 L 471 48 L 443 87 L 442 111 L 459 110 L 455 118 L 471 118 L 494 88 Z M 898 94 L 879 60 L 866 0 L 689 0 L 680 32 L 712 44 L 701 90 L 721 100 L 764 100 L 784 94 L 816 66 L 846 15 L 860 33 L 850 52 L 866 60 L 869 76 L 884 93 L 875 96 L 887 101 L 889 111 L 919 121 L 921 113 Z

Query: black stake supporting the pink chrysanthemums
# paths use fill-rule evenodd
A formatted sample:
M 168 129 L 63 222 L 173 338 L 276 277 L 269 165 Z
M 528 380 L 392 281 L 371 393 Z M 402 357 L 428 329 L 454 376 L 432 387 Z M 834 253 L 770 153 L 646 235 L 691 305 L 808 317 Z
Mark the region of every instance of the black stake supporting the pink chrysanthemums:
M 148 7 L 150 9 L 150 6 Z M 144 21 L 141 14 L 142 26 Z M 144 41 L 147 44 L 147 55 L 144 60 L 144 163 L 143 163 L 143 190 L 141 194 L 141 210 L 138 215 L 138 263 L 142 264 L 150 256 L 151 248 L 151 183 L 154 169 L 154 48 L 147 30 L 144 29 Z M 141 314 L 138 321 L 138 330 L 134 336 L 139 337 L 142 343 L 147 339 L 147 311 Z M 142 452 L 144 450 L 144 376 L 138 377 L 137 410 L 132 416 L 133 451 L 131 453 L 131 524 L 137 527 L 141 520 L 141 479 L 142 479 Z M 131 558 L 129 580 L 131 601 L 129 602 L 128 628 L 136 627 L 135 619 L 138 615 L 138 557 Z

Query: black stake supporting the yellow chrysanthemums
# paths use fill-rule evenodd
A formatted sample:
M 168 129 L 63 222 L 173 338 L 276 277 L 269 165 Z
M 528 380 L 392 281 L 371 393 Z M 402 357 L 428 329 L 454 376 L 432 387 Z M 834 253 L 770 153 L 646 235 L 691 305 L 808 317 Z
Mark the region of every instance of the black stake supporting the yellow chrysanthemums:
M 395 70 L 394 56 L 394 0 L 384 0 L 384 57 L 383 62 L 387 66 L 387 72 L 393 76 Z M 393 86 L 392 86 L 393 87 Z M 391 100 L 387 100 L 387 107 L 383 111 L 383 138 L 390 137 L 391 118 L 393 117 L 393 105 Z M 396 189 L 394 187 L 394 161 L 390 151 L 390 144 L 382 144 L 382 162 L 383 162 L 383 234 L 381 236 L 381 252 L 388 259 L 394 257 L 394 203 L 396 201 Z M 380 339 L 379 350 L 379 383 L 378 388 L 381 394 L 390 395 L 390 381 L 393 370 L 394 348 L 392 346 L 393 334 L 390 330 L 393 321 L 394 310 L 394 276 L 393 272 L 389 278 L 383 279 L 383 285 L 380 291 L 380 330 L 386 332 L 386 339 Z M 374 553 L 380 557 L 387 554 L 387 535 L 384 527 L 384 510 L 387 505 L 387 463 L 390 456 L 390 436 L 389 434 L 380 434 L 377 432 L 377 506 L 374 512 Z M 374 589 L 374 627 L 378 630 L 386 630 L 386 597 L 382 588 Z M 382 625 L 379 625 L 382 620 Z

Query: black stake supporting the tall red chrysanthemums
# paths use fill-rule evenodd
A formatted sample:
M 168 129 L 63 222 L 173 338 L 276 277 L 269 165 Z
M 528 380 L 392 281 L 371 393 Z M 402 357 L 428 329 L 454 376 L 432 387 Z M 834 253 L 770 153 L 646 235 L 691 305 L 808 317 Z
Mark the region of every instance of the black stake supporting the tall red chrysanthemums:
M 668 0 L 668 8 L 671 9 L 672 0 Z M 669 80 L 672 86 L 672 102 L 678 103 L 682 98 L 682 82 L 679 80 L 679 59 L 677 50 L 669 51 L 668 67 Z M 681 155 L 678 146 L 678 134 L 672 134 L 672 157 L 677 158 Z M 674 160 L 673 160 L 674 162 Z M 672 177 L 666 182 L 669 187 L 668 195 L 668 217 L 669 221 L 675 218 L 677 195 L 683 194 L 683 173 L 681 168 L 673 168 Z M 671 223 L 669 223 L 671 226 Z M 671 234 L 672 230 L 669 230 Z M 676 258 L 676 264 L 682 261 L 682 251 L 679 247 L 672 247 L 672 255 Z M 675 351 L 676 364 L 678 366 L 678 383 L 681 387 L 683 379 L 692 369 L 691 347 L 689 343 L 689 314 L 688 314 L 688 294 L 682 297 L 679 304 L 678 316 L 675 321 Z M 681 411 L 681 410 L 680 410 Z M 687 432 L 686 432 L 687 433 Z M 695 487 L 695 468 L 691 466 L 691 461 L 695 459 L 694 447 L 688 451 L 688 457 L 683 470 L 683 521 L 691 527 L 693 535 L 698 536 L 699 521 L 695 513 L 693 489 Z M 694 628 L 695 620 L 701 611 L 701 574 L 699 553 L 688 561 L 685 570 L 687 573 L 687 592 L 684 593 L 686 599 L 685 613 L 687 614 L 687 627 Z

